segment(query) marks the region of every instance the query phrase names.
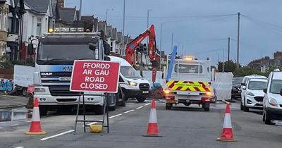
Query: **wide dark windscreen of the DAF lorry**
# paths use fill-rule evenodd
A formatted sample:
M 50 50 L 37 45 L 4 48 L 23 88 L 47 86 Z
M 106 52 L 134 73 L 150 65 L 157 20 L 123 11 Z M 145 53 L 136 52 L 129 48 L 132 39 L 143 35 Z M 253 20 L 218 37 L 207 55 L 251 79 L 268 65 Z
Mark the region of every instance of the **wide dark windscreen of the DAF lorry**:
M 66 64 L 79 59 L 94 59 L 95 51 L 88 44 L 40 44 L 37 64 Z

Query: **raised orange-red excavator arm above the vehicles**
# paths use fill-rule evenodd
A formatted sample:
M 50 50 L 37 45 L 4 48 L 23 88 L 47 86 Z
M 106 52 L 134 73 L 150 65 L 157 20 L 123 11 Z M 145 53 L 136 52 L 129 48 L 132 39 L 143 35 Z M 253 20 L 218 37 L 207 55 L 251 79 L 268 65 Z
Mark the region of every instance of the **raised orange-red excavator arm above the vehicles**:
M 140 43 L 146 38 L 149 37 L 149 59 L 152 63 L 152 82 L 156 80 L 157 67 L 159 66 L 159 55 L 157 54 L 157 42 L 156 42 L 156 34 L 154 32 L 154 25 L 151 25 L 145 32 L 140 34 L 138 37 L 133 39 L 130 43 L 126 45 L 125 49 L 125 59 L 131 65 L 136 65 L 136 56 L 135 50 L 139 47 Z

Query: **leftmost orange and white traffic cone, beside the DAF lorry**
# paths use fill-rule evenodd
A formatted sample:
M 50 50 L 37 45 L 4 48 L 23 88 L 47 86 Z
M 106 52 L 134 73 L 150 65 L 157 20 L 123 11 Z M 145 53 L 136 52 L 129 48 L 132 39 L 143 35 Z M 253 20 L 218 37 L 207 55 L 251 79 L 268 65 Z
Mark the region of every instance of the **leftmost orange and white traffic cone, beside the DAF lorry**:
M 38 107 L 38 99 L 35 98 L 35 104 L 32 112 L 32 121 L 30 123 L 30 131 L 25 132 L 27 135 L 44 135 L 46 132 L 42 131 Z

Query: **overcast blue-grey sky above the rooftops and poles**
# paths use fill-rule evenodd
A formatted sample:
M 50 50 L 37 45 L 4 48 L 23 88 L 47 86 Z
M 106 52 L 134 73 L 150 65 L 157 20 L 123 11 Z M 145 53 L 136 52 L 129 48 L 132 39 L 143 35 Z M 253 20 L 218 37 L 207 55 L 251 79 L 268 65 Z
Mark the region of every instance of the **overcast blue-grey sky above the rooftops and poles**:
M 79 8 L 80 0 L 65 0 L 65 7 Z M 237 24 L 240 12 L 240 58 L 245 66 L 250 61 L 282 50 L 281 0 L 125 0 L 125 35 L 137 37 L 149 24 L 155 26 L 157 47 L 212 63 L 227 61 L 228 37 L 231 38 L 231 60 L 237 57 Z M 123 0 L 82 0 L 82 16 L 94 15 L 108 25 L 122 30 Z M 161 23 L 162 31 L 161 31 Z M 160 32 L 162 39 L 160 40 Z

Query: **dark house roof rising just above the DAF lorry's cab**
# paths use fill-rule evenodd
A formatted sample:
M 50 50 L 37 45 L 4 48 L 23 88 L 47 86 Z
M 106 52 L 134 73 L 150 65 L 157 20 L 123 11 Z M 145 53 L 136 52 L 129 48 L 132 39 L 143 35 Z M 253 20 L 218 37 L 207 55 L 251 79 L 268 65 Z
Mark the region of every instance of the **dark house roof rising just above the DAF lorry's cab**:
M 75 8 L 59 8 L 61 20 L 66 23 L 73 23 L 73 20 L 75 20 L 75 11 Z

